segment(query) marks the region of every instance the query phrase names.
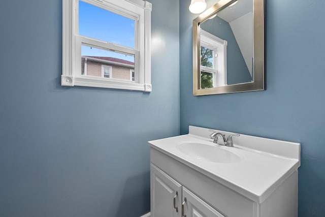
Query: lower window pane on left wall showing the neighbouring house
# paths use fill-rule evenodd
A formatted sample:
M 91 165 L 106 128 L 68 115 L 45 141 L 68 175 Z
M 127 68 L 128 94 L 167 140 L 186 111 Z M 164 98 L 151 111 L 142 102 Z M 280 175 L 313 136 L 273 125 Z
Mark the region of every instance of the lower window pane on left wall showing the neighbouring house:
M 82 75 L 131 80 L 130 70 L 134 70 L 134 56 L 131 54 L 81 46 Z

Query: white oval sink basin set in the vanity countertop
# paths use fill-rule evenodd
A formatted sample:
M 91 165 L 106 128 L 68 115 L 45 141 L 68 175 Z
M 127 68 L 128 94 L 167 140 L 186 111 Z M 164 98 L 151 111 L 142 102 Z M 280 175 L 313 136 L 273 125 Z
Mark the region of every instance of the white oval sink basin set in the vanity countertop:
M 182 143 L 176 148 L 189 157 L 214 163 L 236 163 L 241 160 L 237 154 L 217 146 L 200 143 Z

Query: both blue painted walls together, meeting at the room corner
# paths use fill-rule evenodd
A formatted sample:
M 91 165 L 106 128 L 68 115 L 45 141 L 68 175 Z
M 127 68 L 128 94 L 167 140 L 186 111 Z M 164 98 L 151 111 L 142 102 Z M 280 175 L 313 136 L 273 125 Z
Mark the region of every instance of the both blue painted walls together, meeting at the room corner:
M 2 2 L 0 216 L 141 215 L 146 142 L 188 125 L 301 142 L 299 216 L 324 216 L 325 2 L 267 1 L 268 89 L 202 97 L 189 1 L 151 2 L 150 94 L 60 86 L 61 0 Z

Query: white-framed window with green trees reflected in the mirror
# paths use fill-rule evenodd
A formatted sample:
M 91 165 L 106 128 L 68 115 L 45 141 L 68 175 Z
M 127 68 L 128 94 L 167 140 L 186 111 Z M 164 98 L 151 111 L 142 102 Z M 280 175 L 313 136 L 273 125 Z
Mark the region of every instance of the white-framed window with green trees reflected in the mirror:
M 201 89 L 226 85 L 226 46 L 222 40 L 201 29 Z

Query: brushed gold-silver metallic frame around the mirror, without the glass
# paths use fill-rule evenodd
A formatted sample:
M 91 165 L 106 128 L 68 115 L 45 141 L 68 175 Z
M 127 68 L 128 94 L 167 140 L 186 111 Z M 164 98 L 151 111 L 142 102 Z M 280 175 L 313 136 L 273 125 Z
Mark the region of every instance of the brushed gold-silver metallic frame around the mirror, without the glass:
M 265 90 L 265 15 L 264 1 L 253 1 L 253 81 L 201 89 L 200 24 L 237 0 L 221 0 L 193 20 L 193 96 Z

